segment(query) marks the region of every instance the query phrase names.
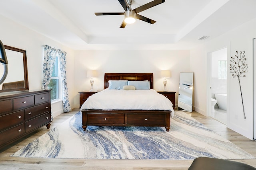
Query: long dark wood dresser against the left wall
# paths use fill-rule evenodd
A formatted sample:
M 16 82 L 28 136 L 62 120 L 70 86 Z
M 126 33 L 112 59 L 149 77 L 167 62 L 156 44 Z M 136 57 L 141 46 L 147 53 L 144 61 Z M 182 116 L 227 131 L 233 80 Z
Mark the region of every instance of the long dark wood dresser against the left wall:
M 0 93 L 0 149 L 51 122 L 51 90 Z

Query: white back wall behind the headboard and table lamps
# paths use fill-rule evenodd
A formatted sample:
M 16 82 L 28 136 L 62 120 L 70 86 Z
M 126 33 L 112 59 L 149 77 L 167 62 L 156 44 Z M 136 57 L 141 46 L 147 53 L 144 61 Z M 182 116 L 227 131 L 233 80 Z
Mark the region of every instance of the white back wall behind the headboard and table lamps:
M 94 90 L 104 89 L 104 73 L 154 73 L 154 89 L 164 90 L 160 70 L 170 70 L 171 78 L 167 79 L 166 89 L 176 92 L 180 72 L 190 71 L 190 52 L 188 50 L 170 51 L 76 51 L 75 82 L 77 95 L 76 107 L 79 107 L 79 91 L 90 90 L 90 78 L 87 70 L 98 70 L 98 78 L 94 78 Z

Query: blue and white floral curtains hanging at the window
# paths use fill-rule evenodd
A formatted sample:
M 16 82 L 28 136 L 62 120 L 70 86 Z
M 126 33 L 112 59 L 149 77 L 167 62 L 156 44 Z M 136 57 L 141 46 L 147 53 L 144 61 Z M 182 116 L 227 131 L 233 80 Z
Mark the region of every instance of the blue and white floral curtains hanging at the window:
M 66 52 L 63 52 L 60 49 L 52 48 L 48 45 L 43 45 L 42 47 L 44 47 L 42 89 L 48 89 L 48 84 L 50 83 L 50 80 L 52 77 L 54 62 L 58 54 L 59 61 L 60 61 L 60 72 L 62 77 L 63 111 L 64 113 L 69 112 L 71 108 L 68 100 L 68 88 L 67 88 L 67 82 L 66 82 Z

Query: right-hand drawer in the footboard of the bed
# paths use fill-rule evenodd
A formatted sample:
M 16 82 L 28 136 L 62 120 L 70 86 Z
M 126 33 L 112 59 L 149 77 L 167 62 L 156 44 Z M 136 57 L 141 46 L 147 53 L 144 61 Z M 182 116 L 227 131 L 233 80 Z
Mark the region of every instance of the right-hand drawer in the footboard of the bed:
M 127 124 L 129 125 L 156 125 L 165 126 L 165 114 L 127 114 Z

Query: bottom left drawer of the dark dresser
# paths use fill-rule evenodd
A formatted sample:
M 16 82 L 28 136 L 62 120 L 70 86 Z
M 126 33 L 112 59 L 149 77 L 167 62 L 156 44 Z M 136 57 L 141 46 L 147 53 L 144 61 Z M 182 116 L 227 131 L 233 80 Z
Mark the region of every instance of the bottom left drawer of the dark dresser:
M 24 124 L 17 125 L 10 129 L 0 132 L 1 140 L 0 146 L 6 144 L 7 142 L 24 135 Z

